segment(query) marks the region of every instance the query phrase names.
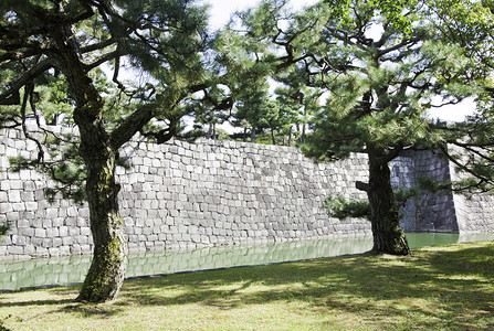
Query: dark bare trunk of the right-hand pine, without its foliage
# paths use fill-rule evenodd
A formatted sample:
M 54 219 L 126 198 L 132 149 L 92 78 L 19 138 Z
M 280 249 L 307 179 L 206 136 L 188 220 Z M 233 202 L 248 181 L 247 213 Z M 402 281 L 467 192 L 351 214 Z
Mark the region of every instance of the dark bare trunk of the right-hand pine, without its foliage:
M 400 228 L 400 214 L 391 188 L 391 171 L 386 152 L 369 148 L 369 188 L 375 253 L 408 255 L 407 238 Z

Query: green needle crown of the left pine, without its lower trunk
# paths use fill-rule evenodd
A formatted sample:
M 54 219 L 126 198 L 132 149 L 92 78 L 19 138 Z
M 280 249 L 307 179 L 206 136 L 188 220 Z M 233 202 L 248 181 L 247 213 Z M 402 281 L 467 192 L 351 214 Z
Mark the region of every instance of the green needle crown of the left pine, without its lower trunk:
M 104 116 L 108 129 L 115 129 L 115 137 L 129 129 L 135 131 L 132 122 L 136 122 L 137 117 L 140 121 L 150 118 L 168 124 L 176 121 L 183 110 L 180 103 L 210 78 L 202 55 L 208 46 L 207 11 L 191 3 L 175 0 L 2 1 L 0 65 L 6 84 L 0 89 L 1 104 L 21 104 L 20 96 L 30 93 L 28 88 L 21 90 L 22 87 L 34 85 L 41 94 L 40 102 L 53 105 L 57 104 L 55 99 L 64 98 L 75 105 L 77 99 L 87 98 L 93 92 L 73 86 L 82 79 L 75 79 L 74 68 L 84 73 L 84 79 L 98 84 L 102 77 L 98 68 L 106 64 L 113 67 L 113 86 L 106 84 L 107 90 L 98 93 L 114 96 L 106 99 Z M 67 68 L 71 52 L 74 67 Z M 133 67 L 132 75 L 147 77 L 143 84 L 136 86 L 136 77 L 120 79 L 124 64 Z M 65 77 L 69 87 L 60 86 L 62 83 L 55 83 L 50 76 L 55 76 L 55 81 Z M 50 84 L 59 86 L 46 92 L 44 86 Z M 63 90 L 66 96 L 60 96 Z M 96 99 L 105 103 L 101 96 L 94 96 Z M 45 115 L 52 111 L 73 115 L 74 107 L 59 104 L 61 109 L 52 106 Z M 134 106 L 127 107 L 129 104 Z M 153 104 L 153 110 L 149 106 L 136 108 L 139 104 Z M 39 105 L 42 110 L 46 107 Z

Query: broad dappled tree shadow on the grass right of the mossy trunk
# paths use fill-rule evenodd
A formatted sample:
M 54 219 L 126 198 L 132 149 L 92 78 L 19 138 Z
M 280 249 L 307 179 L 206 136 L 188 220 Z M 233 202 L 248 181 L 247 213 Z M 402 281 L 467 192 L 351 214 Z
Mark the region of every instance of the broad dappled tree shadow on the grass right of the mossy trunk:
M 128 281 L 116 305 L 199 303 L 232 310 L 296 301 L 314 313 L 345 311 L 368 321 L 419 317 L 417 328 L 493 328 L 494 246 L 462 247 Z

